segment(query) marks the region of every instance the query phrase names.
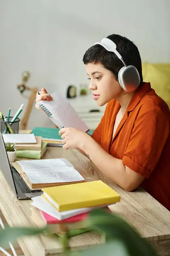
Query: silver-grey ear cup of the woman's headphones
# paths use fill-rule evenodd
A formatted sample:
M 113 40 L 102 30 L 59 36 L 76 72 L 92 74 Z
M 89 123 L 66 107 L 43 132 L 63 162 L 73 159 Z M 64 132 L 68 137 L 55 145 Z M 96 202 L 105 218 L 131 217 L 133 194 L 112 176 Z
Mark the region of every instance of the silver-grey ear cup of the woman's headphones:
M 119 84 L 127 93 L 135 91 L 140 85 L 140 76 L 136 67 L 122 67 L 118 73 Z

